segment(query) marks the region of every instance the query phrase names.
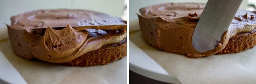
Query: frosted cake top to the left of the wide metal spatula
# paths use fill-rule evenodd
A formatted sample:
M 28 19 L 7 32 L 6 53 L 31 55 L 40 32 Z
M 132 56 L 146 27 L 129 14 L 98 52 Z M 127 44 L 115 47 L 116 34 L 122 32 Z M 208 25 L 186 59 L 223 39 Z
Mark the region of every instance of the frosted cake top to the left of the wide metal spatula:
M 200 15 L 204 10 L 204 7 L 205 4 L 197 3 L 168 3 L 143 7 L 139 11 L 141 15 L 149 18 L 161 17 L 164 19 L 172 19 L 187 16 L 189 13 L 197 13 L 198 15 Z

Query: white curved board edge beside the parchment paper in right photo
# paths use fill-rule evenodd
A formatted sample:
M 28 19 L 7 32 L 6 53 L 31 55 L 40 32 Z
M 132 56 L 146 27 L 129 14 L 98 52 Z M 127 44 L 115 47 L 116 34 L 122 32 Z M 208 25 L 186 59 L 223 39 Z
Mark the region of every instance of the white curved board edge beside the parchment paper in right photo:
M 169 75 L 159 64 L 157 64 L 131 41 L 129 46 L 130 70 L 151 79 L 173 84 L 180 83 L 176 77 Z

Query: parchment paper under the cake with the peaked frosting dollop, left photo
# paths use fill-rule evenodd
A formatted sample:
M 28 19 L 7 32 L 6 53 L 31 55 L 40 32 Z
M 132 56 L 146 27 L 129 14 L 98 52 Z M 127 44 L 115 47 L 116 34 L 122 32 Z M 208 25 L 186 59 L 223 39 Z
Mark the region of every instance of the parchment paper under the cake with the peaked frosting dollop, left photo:
M 28 61 L 13 53 L 10 41 L 6 38 L 7 30 L 0 31 L 0 52 L 28 84 L 126 84 L 126 56 L 104 66 L 89 67 L 58 66 L 38 60 Z

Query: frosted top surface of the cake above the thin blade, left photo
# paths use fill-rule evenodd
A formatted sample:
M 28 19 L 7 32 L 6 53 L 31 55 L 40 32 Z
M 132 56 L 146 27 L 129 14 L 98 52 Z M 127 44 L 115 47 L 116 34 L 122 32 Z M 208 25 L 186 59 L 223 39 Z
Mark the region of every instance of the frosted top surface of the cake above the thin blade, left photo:
M 20 29 L 65 27 L 67 23 L 73 26 L 91 25 L 121 25 L 126 21 L 121 18 L 109 16 L 108 14 L 98 13 L 87 10 L 37 10 L 19 14 L 11 17 L 11 26 Z

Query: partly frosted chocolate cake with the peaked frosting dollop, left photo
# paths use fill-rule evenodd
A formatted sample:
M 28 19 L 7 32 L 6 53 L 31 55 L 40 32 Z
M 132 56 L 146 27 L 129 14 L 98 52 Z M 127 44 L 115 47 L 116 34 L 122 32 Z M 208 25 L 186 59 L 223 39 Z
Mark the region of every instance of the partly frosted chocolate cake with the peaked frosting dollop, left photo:
M 104 65 L 126 56 L 126 28 L 120 18 L 71 9 L 31 11 L 7 25 L 16 55 L 64 66 Z

